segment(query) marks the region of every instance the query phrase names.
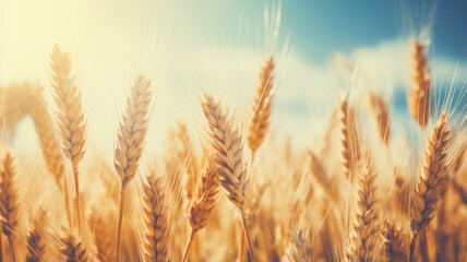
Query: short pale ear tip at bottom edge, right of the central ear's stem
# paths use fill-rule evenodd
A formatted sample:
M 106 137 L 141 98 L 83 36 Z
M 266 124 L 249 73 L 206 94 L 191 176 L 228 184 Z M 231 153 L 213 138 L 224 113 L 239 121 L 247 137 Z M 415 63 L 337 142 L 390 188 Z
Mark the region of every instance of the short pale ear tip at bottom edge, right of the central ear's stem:
M 296 228 L 291 233 L 291 261 L 313 261 L 313 249 L 309 236 L 302 229 Z

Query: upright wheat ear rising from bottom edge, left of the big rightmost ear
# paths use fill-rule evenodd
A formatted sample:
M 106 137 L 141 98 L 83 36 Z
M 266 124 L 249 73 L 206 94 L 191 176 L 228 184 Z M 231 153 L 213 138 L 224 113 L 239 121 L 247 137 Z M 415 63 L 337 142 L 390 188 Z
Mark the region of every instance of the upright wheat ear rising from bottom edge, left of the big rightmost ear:
M 358 201 L 354 217 L 354 246 L 350 247 L 350 261 L 373 261 L 380 237 L 379 212 L 376 210 L 376 172 L 368 166 L 360 171 Z

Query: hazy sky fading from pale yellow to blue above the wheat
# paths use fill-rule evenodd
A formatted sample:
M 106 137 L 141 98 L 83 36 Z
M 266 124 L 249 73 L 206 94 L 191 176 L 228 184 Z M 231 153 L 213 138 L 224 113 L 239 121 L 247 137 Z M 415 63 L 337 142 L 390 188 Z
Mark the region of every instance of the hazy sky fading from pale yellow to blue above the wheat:
M 0 0 L 0 85 L 28 81 L 49 94 L 53 44 L 70 51 L 89 121 L 88 151 L 111 157 L 124 96 L 144 73 L 156 93 L 148 150 L 159 152 L 176 122 L 201 133 L 203 91 L 248 121 L 261 64 L 273 53 L 273 135 L 309 144 L 339 94 L 358 105 L 361 88 L 385 97 L 395 133 L 404 133 L 400 127 L 414 124 L 405 100 L 410 40 L 427 46 L 435 88 L 453 84 L 465 94 L 466 14 L 463 0 Z M 465 106 L 465 97 L 454 97 Z M 13 144 L 39 151 L 31 120 L 20 123 Z

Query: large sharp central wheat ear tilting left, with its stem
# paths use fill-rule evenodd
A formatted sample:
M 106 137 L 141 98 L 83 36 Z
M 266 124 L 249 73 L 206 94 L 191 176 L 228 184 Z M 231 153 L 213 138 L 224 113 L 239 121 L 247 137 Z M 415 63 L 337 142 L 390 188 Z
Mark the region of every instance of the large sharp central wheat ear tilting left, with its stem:
M 228 117 L 220 102 L 215 102 L 211 95 L 205 94 L 201 106 L 208 123 L 209 156 L 212 156 L 214 172 L 224 193 L 241 213 L 251 259 L 254 260 L 244 209 L 249 177 L 243 162 L 241 134 L 236 128 L 234 118 Z

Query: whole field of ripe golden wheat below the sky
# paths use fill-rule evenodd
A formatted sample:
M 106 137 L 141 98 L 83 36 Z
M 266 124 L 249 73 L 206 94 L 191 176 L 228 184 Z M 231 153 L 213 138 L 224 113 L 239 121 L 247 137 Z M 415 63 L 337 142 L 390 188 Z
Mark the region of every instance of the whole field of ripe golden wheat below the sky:
M 158 87 L 128 72 L 111 156 L 89 152 L 82 72 L 50 46 L 46 84 L 0 88 L 0 261 L 467 261 L 466 85 L 441 88 L 429 46 L 407 45 L 411 138 L 393 132 L 392 97 L 342 87 L 322 131 L 294 145 L 271 124 L 287 88 L 271 52 L 247 108 L 204 88 L 201 117 L 169 127 L 161 154 L 147 148 L 171 124 L 151 117 Z M 23 119 L 33 158 L 15 154 Z

